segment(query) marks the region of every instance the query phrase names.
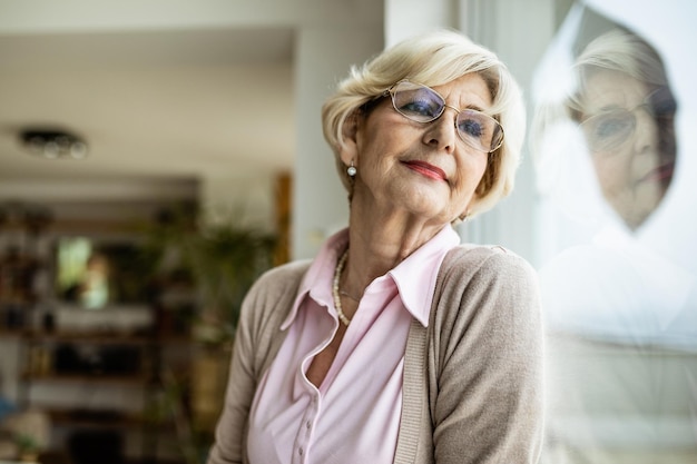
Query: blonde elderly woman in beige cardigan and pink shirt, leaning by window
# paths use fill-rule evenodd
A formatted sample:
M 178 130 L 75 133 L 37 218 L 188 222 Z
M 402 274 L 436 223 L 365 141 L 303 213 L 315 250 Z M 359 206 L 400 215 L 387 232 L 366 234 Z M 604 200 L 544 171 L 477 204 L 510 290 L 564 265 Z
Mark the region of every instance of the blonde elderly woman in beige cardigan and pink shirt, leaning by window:
M 350 226 L 249 292 L 208 463 L 537 462 L 534 273 L 451 226 L 512 188 L 511 75 L 436 31 L 353 69 L 323 121 Z

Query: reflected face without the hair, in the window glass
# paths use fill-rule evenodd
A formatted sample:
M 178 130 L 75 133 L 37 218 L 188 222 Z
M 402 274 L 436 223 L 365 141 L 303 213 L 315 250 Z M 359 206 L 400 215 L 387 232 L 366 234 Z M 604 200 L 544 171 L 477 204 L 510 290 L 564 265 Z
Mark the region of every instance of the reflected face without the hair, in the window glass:
M 616 71 L 587 80 L 581 127 L 602 195 L 630 229 L 658 207 L 673 178 L 675 102 L 666 109 L 666 93 Z

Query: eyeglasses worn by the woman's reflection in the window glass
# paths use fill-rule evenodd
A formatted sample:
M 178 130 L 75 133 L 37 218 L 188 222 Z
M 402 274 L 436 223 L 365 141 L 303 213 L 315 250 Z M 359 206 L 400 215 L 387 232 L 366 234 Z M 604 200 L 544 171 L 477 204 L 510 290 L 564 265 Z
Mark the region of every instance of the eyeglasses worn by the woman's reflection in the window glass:
M 670 90 L 661 87 L 649 93 L 634 108 L 615 108 L 592 115 L 581 122 L 586 140 L 591 151 L 612 151 L 631 139 L 637 129 L 636 111 L 646 111 L 665 130 L 662 122 L 671 119 L 677 103 Z

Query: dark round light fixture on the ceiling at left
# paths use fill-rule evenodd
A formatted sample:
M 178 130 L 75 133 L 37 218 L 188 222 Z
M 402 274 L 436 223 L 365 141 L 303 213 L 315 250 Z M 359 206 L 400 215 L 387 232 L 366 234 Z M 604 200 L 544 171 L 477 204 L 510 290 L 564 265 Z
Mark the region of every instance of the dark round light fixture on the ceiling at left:
M 48 159 L 87 157 L 87 144 L 78 136 L 57 129 L 26 129 L 20 132 L 22 145 L 32 155 Z

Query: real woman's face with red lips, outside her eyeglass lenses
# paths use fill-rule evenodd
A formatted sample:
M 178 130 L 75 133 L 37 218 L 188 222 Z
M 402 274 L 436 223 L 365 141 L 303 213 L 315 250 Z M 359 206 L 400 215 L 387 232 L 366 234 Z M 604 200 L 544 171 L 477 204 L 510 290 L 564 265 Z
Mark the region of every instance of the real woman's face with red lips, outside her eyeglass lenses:
M 449 107 L 487 111 L 491 97 L 484 80 L 467 75 L 433 87 Z M 457 111 L 445 108 L 432 122 L 415 122 L 400 115 L 384 98 L 357 120 L 354 142 L 342 151 L 355 162 L 353 206 L 362 214 L 416 216 L 448 224 L 468 210 L 489 154 L 465 145 L 455 129 Z

